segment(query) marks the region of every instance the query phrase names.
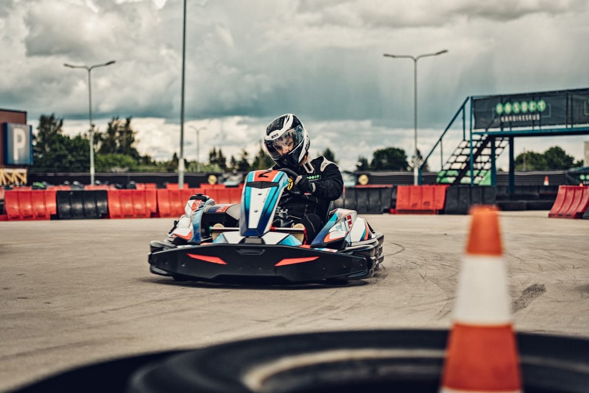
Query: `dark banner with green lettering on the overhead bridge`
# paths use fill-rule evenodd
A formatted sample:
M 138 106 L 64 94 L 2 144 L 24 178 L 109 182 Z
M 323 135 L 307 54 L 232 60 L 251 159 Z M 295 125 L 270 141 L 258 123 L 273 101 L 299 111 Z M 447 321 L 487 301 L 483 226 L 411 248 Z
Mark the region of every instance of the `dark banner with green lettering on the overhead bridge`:
M 478 130 L 589 124 L 589 88 L 474 98 L 472 114 Z

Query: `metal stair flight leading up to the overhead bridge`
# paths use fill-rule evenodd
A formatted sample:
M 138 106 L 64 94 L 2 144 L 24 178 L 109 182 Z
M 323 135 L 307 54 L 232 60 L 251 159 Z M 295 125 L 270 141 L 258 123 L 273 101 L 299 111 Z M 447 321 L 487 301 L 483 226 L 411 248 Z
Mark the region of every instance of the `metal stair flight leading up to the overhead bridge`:
M 495 143 L 495 158 L 497 158 L 508 145 L 507 138 L 489 138 L 484 135 L 477 139 L 473 135 L 472 169 L 474 184 L 481 184 L 491 170 L 492 141 Z M 448 161 L 442 166 L 442 170 L 438 172 L 436 183 L 451 184 L 452 186 L 461 183 L 470 184 L 470 160 L 470 141 L 462 140 L 458 143 Z

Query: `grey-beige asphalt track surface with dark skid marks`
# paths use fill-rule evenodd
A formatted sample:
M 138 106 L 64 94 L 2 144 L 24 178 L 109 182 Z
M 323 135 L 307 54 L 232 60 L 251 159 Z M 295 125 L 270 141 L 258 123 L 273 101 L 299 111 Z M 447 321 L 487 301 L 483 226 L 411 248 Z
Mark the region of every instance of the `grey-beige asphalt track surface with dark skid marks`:
M 514 327 L 589 337 L 589 220 L 501 212 Z M 468 216 L 369 215 L 377 275 L 243 286 L 152 275 L 171 219 L 0 222 L 0 391 L 95 362 L 286 333 L 449 328 Z

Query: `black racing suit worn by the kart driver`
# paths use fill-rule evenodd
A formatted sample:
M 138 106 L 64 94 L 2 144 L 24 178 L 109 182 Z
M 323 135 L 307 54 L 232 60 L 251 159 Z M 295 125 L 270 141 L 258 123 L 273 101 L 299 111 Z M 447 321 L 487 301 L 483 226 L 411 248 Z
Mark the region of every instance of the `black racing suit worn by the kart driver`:
M 312 168 L 312 171 L 307 171 L 305 167 L 309 170 Z M 280 167 L 275 165 L 272 169 L 280 169 Z M 315 213 L 321 219 L 322 224 L 325 224 L 330 203 L 342 196 L 342 173 L 336 164 L 323 156 L 310 161 L 310 166 L 309 163 L 306 163 L 304 166 L 298 167 L 295 172 L 306 176 L 310 183 L 315 184 L 315 191 L 312 194 L 296 195 L 286 189 L 278 206 L 286 209 L 288 215 L 293 216 L 295 222 L 300 222 L 307 214 Z M 292 183 L 289 184 L 289 187 L 293 191 L 296 190 L 296 186 Z

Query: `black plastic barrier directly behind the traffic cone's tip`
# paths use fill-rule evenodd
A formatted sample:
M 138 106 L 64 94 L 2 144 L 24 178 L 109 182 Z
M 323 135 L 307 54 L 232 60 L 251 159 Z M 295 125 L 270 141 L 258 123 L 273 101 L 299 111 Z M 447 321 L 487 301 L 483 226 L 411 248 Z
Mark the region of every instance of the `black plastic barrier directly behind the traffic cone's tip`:
M 451 186 L 446 189 L 444 214 L 468 214 L 476 204 L 495 204 L 497 189 L 494 186 Z

